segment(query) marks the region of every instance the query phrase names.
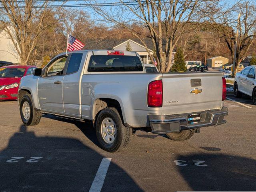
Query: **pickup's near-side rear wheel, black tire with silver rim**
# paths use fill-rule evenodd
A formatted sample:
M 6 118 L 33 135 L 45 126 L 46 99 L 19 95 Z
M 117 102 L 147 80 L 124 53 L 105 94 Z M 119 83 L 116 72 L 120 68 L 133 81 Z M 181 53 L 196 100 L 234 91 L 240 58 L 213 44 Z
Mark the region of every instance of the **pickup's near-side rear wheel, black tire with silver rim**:
M 130 142 L 132 128 L 123 125 L 116 108 L 106 108 L 96 120 L 96 136 L 100 147 L 105 151 L 122 151 Z

